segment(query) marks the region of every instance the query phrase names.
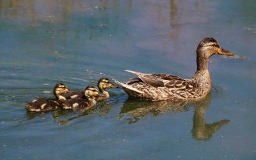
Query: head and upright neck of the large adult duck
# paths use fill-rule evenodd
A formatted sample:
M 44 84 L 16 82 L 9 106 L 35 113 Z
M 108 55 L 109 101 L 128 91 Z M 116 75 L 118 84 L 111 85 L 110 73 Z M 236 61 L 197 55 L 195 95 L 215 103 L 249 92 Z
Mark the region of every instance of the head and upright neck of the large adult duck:
M 207 68 L 209 58 L 214 54 L 221 54 L 225 56 L 233 56 L 234 53 L 222 49 L 214 38 L 202 39 L 196 49 L 196 61 L 198 69 Z

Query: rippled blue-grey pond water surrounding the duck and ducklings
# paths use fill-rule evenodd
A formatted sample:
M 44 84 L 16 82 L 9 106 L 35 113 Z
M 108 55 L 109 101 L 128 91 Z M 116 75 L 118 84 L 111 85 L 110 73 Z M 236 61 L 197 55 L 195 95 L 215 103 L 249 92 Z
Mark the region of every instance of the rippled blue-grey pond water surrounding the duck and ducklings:
M 1 0 L 1 159 L 256 159 L 255 15 L 253 0 Z M 127 81 L 124 69 L 191 77 L 205 36 L 236 56 L 211 57 L 199 102 L 118 89 L 84 113 L 26 111 L 56 83 Z

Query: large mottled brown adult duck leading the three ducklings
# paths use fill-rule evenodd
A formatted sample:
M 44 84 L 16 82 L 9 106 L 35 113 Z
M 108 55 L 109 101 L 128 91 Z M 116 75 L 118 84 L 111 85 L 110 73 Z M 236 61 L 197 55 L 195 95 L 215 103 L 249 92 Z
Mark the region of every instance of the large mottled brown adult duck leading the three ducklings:
M 151 100 L 188 100 L 200 99 L 211 92 L 211 76 L 208 70 L 209 58 L 214 54 L 233 56 L 234 53 L 220 47 L 214 38 L 204 38 L 196 49 L 197 69 L 195 76 L 182 79 L 172 74 L 144 74 L 125 70 L 136 74 L 133 81 L 120 84 L 131 97 Z M 134 81 L 135 80 L 135 81 Z

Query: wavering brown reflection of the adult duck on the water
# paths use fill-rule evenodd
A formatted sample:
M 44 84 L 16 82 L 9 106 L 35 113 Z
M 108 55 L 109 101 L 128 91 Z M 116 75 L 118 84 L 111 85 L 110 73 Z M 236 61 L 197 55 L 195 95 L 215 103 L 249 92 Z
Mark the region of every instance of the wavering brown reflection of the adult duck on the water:
M 131 115 L 127 118 L 129 124 L 138 122 L 140 118 L 152 113 L 153 116 L 162 115 L 166 111 L 182 112 L 187 111 L 190 106 L 195 106 L 193 116 L 193 128 L 191 130 L 193 138 L 196 140 L 208 140 L 214 132 L 218 131 L 221 126 L 228 124 L 229 120 L 220 120 L 212 124 L 205 123 L 205 111 L 211 103 L 211 94 L 204 99 L 198 101 L 172 102 L 169 100 L 148 101 L 129 98 L 124 102 L 124 106 L 120 110 L 120 118 L 124 115 Z

